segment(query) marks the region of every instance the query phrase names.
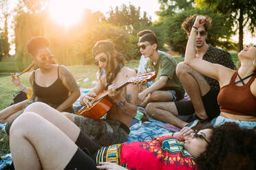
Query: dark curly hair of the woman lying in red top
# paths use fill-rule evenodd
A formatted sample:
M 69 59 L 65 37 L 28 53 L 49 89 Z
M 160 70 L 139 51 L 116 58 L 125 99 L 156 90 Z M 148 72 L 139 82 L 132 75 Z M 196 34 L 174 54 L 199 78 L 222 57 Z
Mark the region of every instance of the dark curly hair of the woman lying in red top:
M 213 129 L 210 143 L 196 160 L 198 169 L 255 169 L 256 127 L 247 130 L 236 123 Z

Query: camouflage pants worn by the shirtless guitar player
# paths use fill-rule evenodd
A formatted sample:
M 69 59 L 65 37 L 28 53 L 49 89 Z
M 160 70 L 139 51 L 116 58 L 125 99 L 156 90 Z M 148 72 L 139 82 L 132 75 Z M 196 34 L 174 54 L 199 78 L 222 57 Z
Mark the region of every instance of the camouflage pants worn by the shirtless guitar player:
M 89 119 L 75 116 L 74 123 L 94 142 L 102 146 L 124 143 L 128 133 L 122 128 L 120 121 L 109 119 Z

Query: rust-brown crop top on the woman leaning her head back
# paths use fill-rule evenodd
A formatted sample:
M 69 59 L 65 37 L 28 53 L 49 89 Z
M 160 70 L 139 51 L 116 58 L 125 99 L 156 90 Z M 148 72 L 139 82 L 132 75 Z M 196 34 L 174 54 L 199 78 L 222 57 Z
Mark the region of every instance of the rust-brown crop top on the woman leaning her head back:
M 235 85 L 237 71 L 231 77 L 231 82 L 220 88 L 217 103 L 220 111 L 237 115 L 256 117 L 256 97 L 250 92 L 250 84 L 256 78 L 256 74 L 244 86 Z

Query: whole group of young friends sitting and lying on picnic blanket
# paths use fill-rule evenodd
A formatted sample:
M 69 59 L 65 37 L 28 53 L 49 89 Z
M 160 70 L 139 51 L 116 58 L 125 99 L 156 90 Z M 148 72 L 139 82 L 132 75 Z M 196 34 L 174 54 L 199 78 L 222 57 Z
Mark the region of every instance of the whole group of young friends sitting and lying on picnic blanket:
M 236 71 L 227 51 L 206 43 L 209 17 L 190 16 L 182 27 L 189 39 L 178 65 L 158 50 L 151 30 L 138 33 L 138 73 L 125 66 L 112 42 L 96 42 L 92 56 L 98 84 L 81 97 L 81 105 L 92 106 L 108 90 L 114 106 L 98 120 L 73 113 L 71 106 L 81 95 L 74 76 L 56 64 L 47 39 L 32 38 L 27 51 L 33 63 L 22 72 L 36 66 L 30 73 L 32 96 L 0 112 L 0 122 L 8 122 L 15 169 L 255 169 L 256 46 L 239 52 Z M 151 71 L 158 73 L 151 86 L 116 90 L 130 77 Z M 12 76 L 25 90 L 18 79 Z M 190 100 L 182 100 L 185 90 Z M 125 143 L 138 106 L 180 132 Z M 178 117 L 191 114 L 195 123 L 204 123 L 198 132 Z

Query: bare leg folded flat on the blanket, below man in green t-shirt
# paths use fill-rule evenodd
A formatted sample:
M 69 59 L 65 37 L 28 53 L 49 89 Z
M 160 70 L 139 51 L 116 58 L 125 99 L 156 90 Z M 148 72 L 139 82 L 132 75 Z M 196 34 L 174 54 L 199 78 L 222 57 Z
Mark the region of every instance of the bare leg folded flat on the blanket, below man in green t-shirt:
M 174 102 L 155 102 L 147 104 L 147 114 L 159 121 L 170 123 L 176 127 L 184 127 L 188 123 L 178 118 L 178 110 Z

